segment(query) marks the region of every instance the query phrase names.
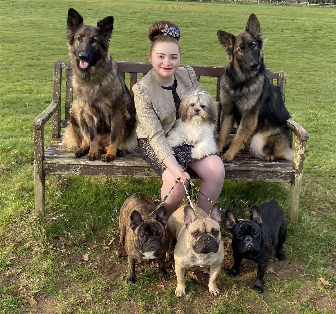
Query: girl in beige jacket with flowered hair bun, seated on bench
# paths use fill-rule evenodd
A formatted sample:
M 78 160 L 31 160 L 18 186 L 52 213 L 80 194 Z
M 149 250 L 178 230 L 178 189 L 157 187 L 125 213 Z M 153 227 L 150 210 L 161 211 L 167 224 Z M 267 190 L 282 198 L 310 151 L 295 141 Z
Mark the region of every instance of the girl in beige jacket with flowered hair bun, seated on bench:
M 139 119 L 136 131 L 141 156 L 162 178 L 162 199 L 177 177 L 180 177 L 180 183 L 190 179 L 178 163 L 179 160 L 182 163 L 188 162 L 188 166 L 202 179 L 202 193 L 215 202 L 222 190 L 225 176 L 221 159 L 217 155 L 210 155 L 201 160 L 193 160 L 190 146 L 172 149 L 166 140 L 167 133 L 178 118 L 181 98 L 195 90 L 202 91 L 203 86 L 197 81 L 192 67 L 179 67 L 180 31 L 176 24 L 157 21 L 149 28 L 148 37 L 152 42 L 149 61 L 153 69 L 132 89 Z M 167 219 L 180 206 L 184 194 L 182 184 L 177 184 L 163 204 L 167 209 Z M 208 214 L 211 205 L 205 197 L 199 195 L 198 206 Z

